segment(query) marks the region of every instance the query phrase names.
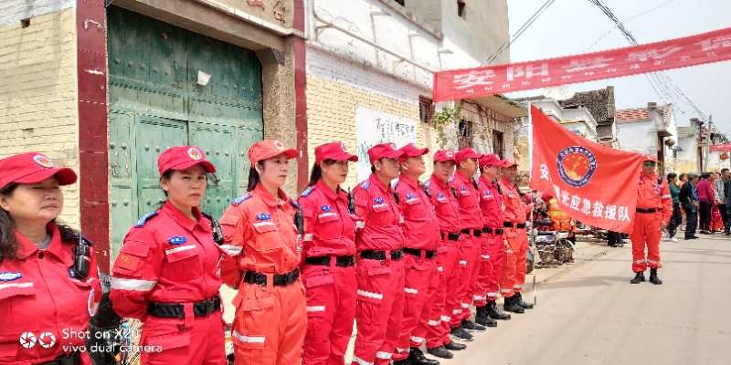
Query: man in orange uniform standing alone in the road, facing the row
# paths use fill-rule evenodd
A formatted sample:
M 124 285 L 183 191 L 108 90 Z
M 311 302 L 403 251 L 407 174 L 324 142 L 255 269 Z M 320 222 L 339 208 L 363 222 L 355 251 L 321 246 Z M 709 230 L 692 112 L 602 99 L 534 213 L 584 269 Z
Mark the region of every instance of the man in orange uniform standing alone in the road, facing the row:
M 650 282 L 661 285 L 657 276 L 660 263 L 660 236 L 673 215 L 673 199 L 668 185 L 655 174 L 657 159 L 647 157 L 642 162 L 640 185 L 637 190 L 637 214 L 634 215 L 634 228 L 630 234 L 632 242 L 632 271 L 635 276 L 631 284 L 645 281 L 644 271 L 650 266 Z M 645 255 L 647 246 L 647 255 Z

